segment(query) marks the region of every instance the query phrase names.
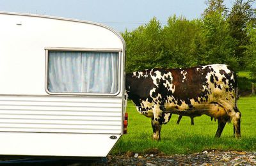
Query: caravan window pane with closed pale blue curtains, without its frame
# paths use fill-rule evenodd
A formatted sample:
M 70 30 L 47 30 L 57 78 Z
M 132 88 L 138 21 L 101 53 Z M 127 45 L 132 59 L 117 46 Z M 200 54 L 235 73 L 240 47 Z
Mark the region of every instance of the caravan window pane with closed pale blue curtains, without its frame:
M 118 52 L 48 51 L 50 93 L 118 92 Z

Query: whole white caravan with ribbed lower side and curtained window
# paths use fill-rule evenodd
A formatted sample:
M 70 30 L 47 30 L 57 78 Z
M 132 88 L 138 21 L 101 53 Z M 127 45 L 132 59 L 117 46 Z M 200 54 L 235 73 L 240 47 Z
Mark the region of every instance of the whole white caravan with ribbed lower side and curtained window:
M 0 155 L 108 155 L 126 127 L 122 36 L 43 15 L 0 22 Z

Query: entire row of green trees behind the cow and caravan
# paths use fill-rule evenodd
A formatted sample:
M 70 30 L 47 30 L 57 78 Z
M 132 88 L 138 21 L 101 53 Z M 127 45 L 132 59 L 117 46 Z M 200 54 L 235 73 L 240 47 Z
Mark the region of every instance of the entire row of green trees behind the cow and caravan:
M 223 0 L 207 0 L 202 19 L 173 15 L 161 26 L 154 17 L 148 24 L 125 31 L 127 72 L 224 63 L 236 71 L 249 70 L 255 77 L 255 0 L 234 1 L 228 10 Z

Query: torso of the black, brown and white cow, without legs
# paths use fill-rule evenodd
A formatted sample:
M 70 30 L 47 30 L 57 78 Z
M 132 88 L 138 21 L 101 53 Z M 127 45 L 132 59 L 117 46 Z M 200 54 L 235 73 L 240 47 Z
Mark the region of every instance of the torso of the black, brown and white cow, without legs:
M 166 112 L 200 116 L 207 114 L 205 110 L 212 109 L 212 105 L 223 107 L 236 102 L 235 76 L 225 64 L 154 68 L 128 75 L 127 89 L 143 114 L 152 111 L 150 106 L 158 104 Z

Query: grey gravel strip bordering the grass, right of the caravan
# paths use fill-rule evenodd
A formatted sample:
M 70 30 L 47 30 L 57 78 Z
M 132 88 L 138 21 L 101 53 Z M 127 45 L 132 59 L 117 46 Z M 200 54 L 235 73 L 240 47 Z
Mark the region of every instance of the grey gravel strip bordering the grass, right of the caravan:
M 170 156 L 156 151 L 147 155 L 128 152 L 123 156 L 108 156 L 108 165 L 256 165 L 256 152 L 211 150 Z

